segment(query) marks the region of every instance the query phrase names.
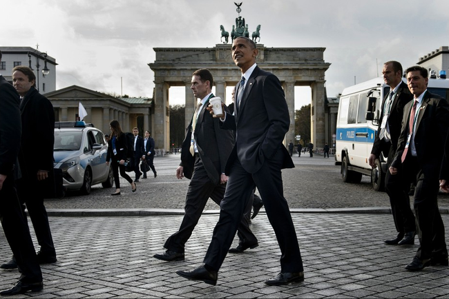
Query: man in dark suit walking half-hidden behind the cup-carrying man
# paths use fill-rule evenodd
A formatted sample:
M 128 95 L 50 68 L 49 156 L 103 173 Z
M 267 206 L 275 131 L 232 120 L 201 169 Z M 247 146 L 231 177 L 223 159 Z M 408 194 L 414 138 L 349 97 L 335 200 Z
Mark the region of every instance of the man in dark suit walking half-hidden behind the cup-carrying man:
M 190 178 L 189 190 L 186 196 L 185 214 L 180 229 L 171 235 L 162 254 L 154 257 L 160 260 L 184 260 L 184 247 L 189 240 L 195 225 L 200 220 L 202 211 L 209 198 L 220 205 L 225 195 L 226 160 L 234 144 L 231 131 L 220 130 L 220 120 L 213 118 L 207 111 L 209 99 L 213 98 L 211 87 L 213 76 L 209 70 L 200 69 L 193 72 L 191 89 L 195 98 L 201 99 L 193 114 L 192 121 L 187 127 L 187 134 L 182 143 L 181 164 L 176 169 L 176 177 Z M 249 198 L 249 194 L 247 196 Z M 248 223 L 242 218 L 238 219 L 239 237 L 245 249 L 258 246 L 256 236 L 251 232 Z M 236 234 L 236 231 L 233 232 Z M 229 249 L 229 247 L 228 247 Z

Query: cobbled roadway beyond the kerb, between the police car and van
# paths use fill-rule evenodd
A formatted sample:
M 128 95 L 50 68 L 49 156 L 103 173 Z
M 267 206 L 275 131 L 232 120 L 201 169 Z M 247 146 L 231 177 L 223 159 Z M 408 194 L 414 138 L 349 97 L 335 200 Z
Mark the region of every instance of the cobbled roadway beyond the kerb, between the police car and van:
M 295 168 L 283 170 L 284 194 L 292 209 L 338 209 L 359 207 L 390 207 L 385 192 L 375 192 L 370 178 L 363 176 L 360 184 L 343 183 L 340 167 L 334 165 L 334 157 L 314 155 L 293 157 Z M 140 179 L 137 192 L 131 193 L 131 185 L 120 181 L 122 196 L 111 196 L 113 188 L 95 185 L 88 196 L 76 192 L 62 199 L 46 200 L 48 209 L 184 209 L 189 180 L 175 177 L 180 155 L 155 158 L 157 178 L 149 172 L 149 178 Z M 134 178 L 134 173 L 128 174 Z M 439 196 L 440 207 L 449 207 L 449 196 Z M 206 209 L 218 209 L 209 200 Z

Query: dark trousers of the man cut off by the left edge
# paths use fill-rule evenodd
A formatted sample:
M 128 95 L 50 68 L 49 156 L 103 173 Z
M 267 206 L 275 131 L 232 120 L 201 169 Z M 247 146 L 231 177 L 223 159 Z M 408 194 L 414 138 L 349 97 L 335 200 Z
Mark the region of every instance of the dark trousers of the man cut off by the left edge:
M 12 174 L 6 178 L 0 190 L 0 214 L 1 226 L 22 272 L 20 280 L 23 283 L 41 282 L 41 268 L 26 217 L 21 211 Z

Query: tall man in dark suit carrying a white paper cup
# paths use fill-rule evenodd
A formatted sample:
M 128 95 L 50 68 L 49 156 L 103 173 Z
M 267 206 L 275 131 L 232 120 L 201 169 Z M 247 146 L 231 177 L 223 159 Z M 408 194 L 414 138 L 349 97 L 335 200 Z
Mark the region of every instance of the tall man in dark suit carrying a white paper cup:
M 229 181 L 204 265 L 193 271 L 176 272 L 184 278 L 216 285 L 218 270 L 231 247 L 249 196 L 257 186 L 281 251 L 280 274 L 265 283 L 285 285 L 304 280 L 303 261 L 283 196 L 281 174 L 281 169 L 294 167 L 283 145 L 289 130 L 289 111 L 278 78 L 258 68 L 257 54 L 251 39 L 234 39 L 232 58 L 242 71 L 242 80 L 236 87 L 236 109 L 234 115 L 216 115 L 221 118 L 223 129 L 236 130 L 236 145 L 225 172 Z

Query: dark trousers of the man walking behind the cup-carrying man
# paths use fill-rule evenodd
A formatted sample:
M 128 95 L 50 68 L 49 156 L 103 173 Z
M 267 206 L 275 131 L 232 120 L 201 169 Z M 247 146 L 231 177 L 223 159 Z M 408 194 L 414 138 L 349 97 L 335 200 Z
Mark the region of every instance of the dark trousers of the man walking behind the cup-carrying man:
M 182 218 L 179 231 L 166 240 L 164 247 L 171 251 L 184 253 L 185 244 L 189 240 L 193 229 L 198 224 L 207 200 L 211 198 L 215 203 L 220 205 L 225 195 L 225 189 L 226 184 L 219 183 L 218 185 L 214 185 L 211 182 L 201 158 L 196 158 L 193 176 L 189 184 L 189 189 L 187 190 L 184 218 Z M 257 243 L 256 236 L 249 229 L 247 221 L 242 218 L 242 214 L 240 213 L 240 225 L 237 225 L 240 236 L 245 239 L 245 242 L 250 244 Z M 236 231 L 234 231 L 234 236 L 235 234 Z

